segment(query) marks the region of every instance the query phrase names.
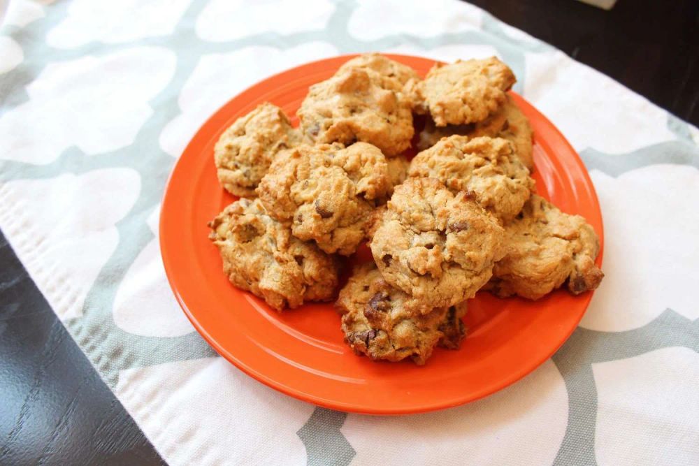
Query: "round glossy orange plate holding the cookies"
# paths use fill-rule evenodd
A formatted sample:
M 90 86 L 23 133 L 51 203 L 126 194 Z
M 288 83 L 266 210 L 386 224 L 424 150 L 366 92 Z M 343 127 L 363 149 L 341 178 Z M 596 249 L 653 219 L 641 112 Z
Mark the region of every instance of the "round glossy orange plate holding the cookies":
M 343 343 L 331 303 L 275 312 L 222 273 L 207 222 L 233 201 L 219 187 L 213 146 L 236 118 L 271 101 L 289 115 L 308 87 L 349 57 L 298 66 L 250 87 L 218 110 L 187 146 L 168 182 L 160 244 L 168 279 L 196 330 L 228 361 L 278 391 L 315 405 L 368 414 L 408 414 L 483 398 L 532 372 L 561 347 L 592 297 L 565 291 L 531 302 L 478 293 L 465 317 L 458 351 L 436 349 L 423 367 L 374 363 Z M 391 55 L 424 75 L 433 60 Z M 602 216 L 587 171 L 561 133 L 517 94 L 535 133 L 538 191 L 565 212 L 581 214 L 602 240 Z M 294 118 L 294 124 L 296 119 Z M 598 257 L 601 264 L 602 254 Z

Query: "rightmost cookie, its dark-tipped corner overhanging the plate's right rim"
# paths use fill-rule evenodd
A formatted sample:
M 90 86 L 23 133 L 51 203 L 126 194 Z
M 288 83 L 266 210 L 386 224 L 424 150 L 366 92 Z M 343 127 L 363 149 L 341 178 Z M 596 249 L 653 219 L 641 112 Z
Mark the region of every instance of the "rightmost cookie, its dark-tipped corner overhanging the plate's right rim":
M 567 283 L 573 294 L 596 289 L 604 274 L 595 264 L 600 243 L 579 215 L 561 212 L 533 195 L 505 225 L 507 254 L 496 263 L 487 289 L 500 297 L 536 300 Z

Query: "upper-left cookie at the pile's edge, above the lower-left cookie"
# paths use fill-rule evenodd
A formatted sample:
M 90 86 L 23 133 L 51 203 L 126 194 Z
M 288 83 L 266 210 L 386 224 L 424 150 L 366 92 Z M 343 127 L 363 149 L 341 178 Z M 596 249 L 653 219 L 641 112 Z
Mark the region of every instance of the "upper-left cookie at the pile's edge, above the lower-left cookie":
M 221 185 L 231 194 L 254 197 L 276 154 L 301 142 L 281 108 L 262 103 L 226 129 L 214 147 Z

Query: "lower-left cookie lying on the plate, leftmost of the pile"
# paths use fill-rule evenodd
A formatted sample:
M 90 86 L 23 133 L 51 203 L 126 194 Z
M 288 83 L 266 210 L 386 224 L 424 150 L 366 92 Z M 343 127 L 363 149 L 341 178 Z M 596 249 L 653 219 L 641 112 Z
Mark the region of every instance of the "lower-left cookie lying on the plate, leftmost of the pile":
M 276 310 L 333 298 L 336 259 L 294 238 L 291 228 L 270 217 L 259 199 L 232 203 L 209 226 L 224 273 L 238 288 L 252 291 Z

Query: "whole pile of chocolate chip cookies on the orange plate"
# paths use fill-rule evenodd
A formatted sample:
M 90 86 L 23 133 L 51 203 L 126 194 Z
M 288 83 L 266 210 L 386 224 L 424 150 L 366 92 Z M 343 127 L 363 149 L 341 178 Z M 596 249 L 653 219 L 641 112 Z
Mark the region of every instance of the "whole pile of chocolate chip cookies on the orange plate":
M 226 276 L 280 311 L 337 299 L 356 354 L 417 364 L 459 347 L 481 289 L 531 300 L 595 289 L 597 235 L 535 194 L 514 82 L 495 57 L 436 64 L 421 80 L 365 54 L 310 87 L 298 129 L 271 103 L 238 119 L 214 154 L 240 197 L 210 222 Z M 374 261 L 338 296 L 344 259 L 365 241 Z

